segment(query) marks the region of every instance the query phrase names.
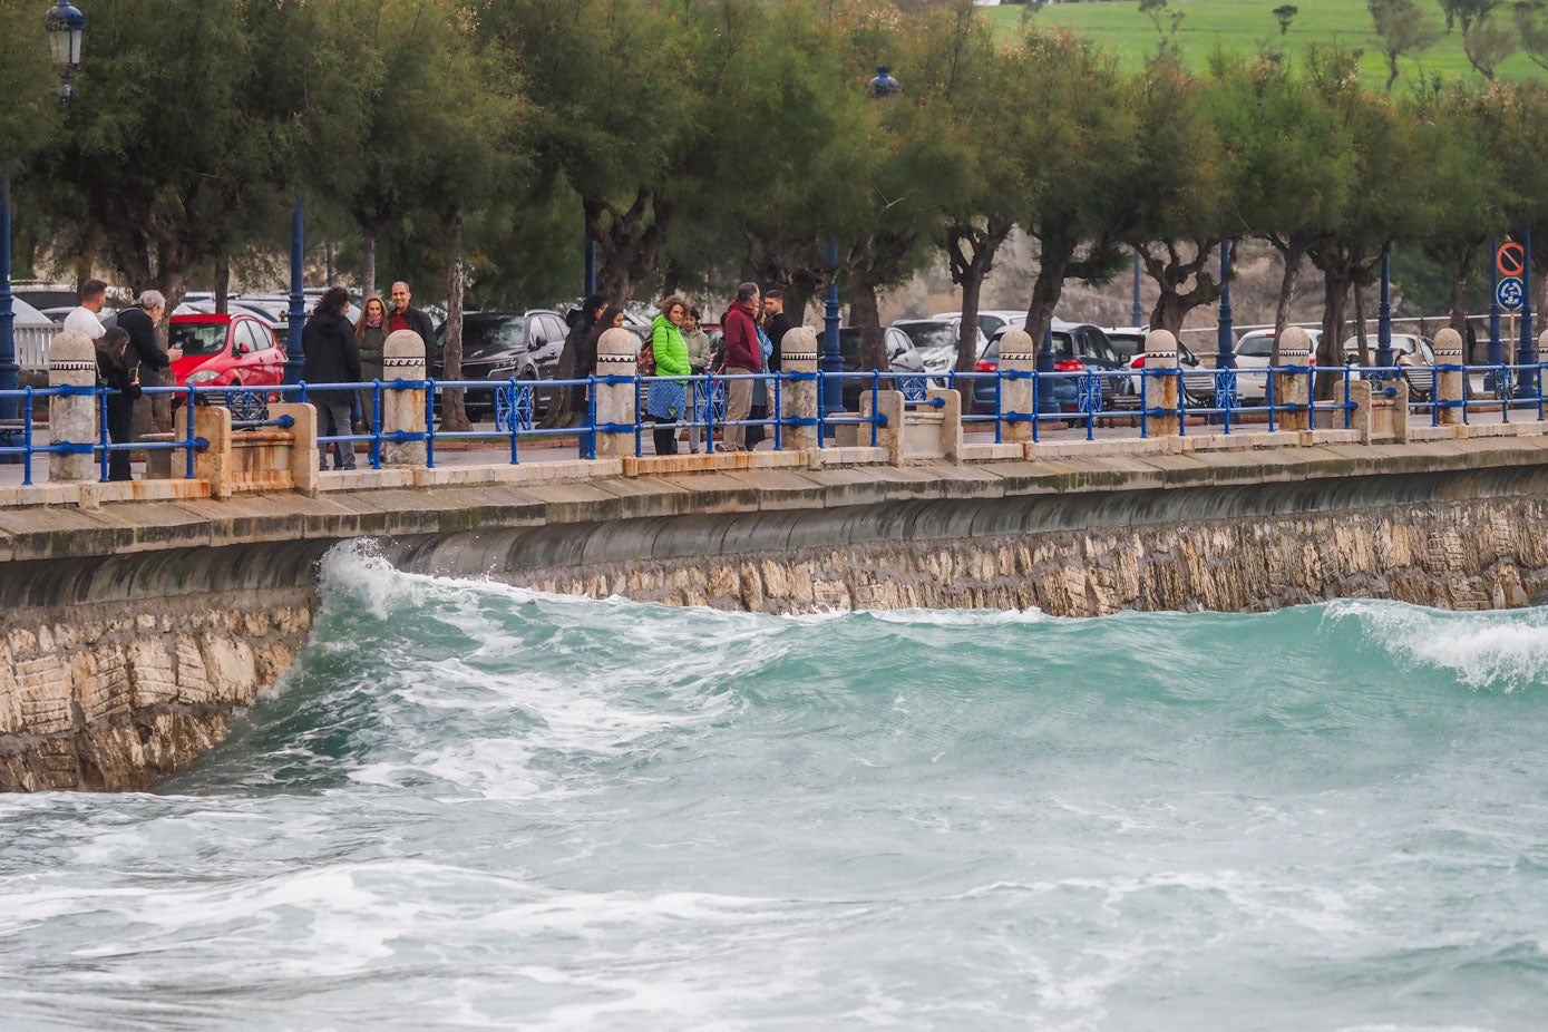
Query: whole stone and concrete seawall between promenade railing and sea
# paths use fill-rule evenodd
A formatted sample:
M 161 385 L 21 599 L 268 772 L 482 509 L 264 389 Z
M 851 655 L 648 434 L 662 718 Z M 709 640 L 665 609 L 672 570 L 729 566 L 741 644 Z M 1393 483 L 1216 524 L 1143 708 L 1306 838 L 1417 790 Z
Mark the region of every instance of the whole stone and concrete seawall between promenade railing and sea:
M 1525 605 L 1540 438 L 0 509 L 0 789 L 141 788 L 294 661 L 316 563 L 765 611 Z

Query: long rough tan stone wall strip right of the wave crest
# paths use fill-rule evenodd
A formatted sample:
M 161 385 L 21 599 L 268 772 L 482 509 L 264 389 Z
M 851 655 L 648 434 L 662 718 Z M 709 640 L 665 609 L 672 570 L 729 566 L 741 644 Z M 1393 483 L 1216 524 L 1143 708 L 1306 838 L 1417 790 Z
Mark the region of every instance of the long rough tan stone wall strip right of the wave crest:
M 670 605 L 813 610 L 1272 610 L 1379 597 L 1450 610 L 1526 605 L 1548 588 L 1548 500 L 862 542 L 590 569 L 508 569 L 562 594 Z

